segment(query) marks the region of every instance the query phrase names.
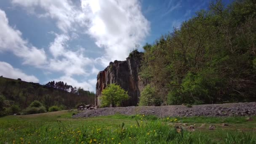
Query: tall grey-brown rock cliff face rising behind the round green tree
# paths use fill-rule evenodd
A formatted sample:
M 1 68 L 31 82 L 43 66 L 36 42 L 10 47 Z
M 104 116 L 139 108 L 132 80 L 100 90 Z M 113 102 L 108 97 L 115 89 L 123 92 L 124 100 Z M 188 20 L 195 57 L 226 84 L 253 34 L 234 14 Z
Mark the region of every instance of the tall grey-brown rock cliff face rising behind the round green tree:
M 126 61 L 110 62 L 109 66 L 104 71 L 99 72 L 96 83 L 96 98 L 97 106 L 101 105 L 101 92 L 108 84 L 116 83 L 120 85 L 131 98 L 122 103 L 123 107 L 136 106 L 139 101 L 139 96 L 142 88 L 146 83 L 142 82 L 139 77 L 139 68 L 141 67 L 143 53 L 133 51 Z

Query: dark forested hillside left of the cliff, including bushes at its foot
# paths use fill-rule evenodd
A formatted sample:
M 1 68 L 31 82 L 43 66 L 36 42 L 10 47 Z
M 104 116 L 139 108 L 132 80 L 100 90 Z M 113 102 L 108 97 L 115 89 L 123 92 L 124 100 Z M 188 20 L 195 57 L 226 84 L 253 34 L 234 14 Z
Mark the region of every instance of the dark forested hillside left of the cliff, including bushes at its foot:
M 0 77 L 0 115 L 20 113 L 30 107 L 33 101 L 39 101 L 43 107 L 42 112 L 48 111 L 52 106 L 58 109 L 72 109 L 81 103 L 94 104 L 94 97 L 93 92 L 73 88 L 72 85 L 61 81 L 40 85 L 22 81 L 20 78 L 13 80 Z

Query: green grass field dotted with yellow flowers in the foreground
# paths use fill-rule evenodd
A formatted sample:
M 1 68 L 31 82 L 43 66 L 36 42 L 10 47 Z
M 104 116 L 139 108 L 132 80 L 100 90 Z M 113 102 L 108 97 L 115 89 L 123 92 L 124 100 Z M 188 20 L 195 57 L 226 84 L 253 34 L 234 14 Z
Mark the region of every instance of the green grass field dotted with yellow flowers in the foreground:
M 0 144 L 256 144 L 255 116 L 252 121 L 246 117 L 152 115 L 71 118 L 73 113 L 0 117 Z M 216 128 L 209 130 L 210 125 Z

